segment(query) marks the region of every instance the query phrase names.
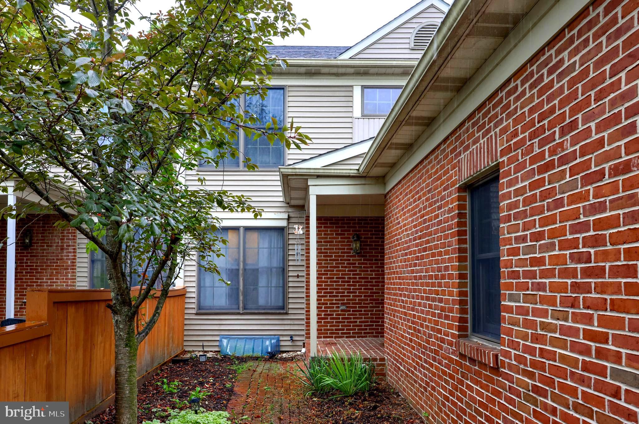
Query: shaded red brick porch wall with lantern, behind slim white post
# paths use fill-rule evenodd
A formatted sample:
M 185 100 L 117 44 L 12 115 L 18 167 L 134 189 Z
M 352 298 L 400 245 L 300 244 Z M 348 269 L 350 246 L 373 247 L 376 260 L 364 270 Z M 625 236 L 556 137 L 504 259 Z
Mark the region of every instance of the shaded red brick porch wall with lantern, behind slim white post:
M 351 248 L 355 233 L 362 240 L 357 255 Z M 308 240 L 306 249 L 309 260 Z M 309 339 L 308 275 L 306 287 Z M 384 218 L 318 217 L 318 339 L 382 337 L 383 304 Z

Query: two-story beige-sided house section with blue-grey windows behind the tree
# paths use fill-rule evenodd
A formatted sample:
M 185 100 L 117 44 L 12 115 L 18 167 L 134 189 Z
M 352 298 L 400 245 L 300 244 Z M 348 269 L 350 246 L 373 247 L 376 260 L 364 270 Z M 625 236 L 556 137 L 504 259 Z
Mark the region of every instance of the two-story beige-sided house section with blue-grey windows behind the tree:
M 332 163 L 337 150 L 344 159 L 327 170 L 355 171 L 448 8 L 442 0 L 419 1 L 352 47 L 270 48 L 287 59 L 288 66 L 274 72 L 266 101 L 246 98 L 242 107 L 259 106 L 280 122 L 293 119 L 312 143 L 285 151 L 277 143 L 240 135 L 238 150 L 258 163 L 259 171 L 248 172 L 240 159 L 228 159 L 224 168 L 202 163 L 185 175 L 194 186 L 202 176 L 211 189 L 245 194 L 264 211 L 257 220 L 252 214 L 219 214 L 230 243 L 218 265 L 230 286 L 201 272 L 195 256 L 185 263 L 177 283 L 187 288 L 185 349 L 217 350 L 220 335 L 276 335 L 282 350 L 302 349 L 307 231 L 296 234 L 295 226 L 305 227 L 307 213 L 303 202 L 285 199 L 282 190 L 288 187 L 282 187 L 278 168 L 295 164 L 303 170 L 316 161 Z M 383 208 L 375 214 L 375 219 L 383 219 Z M 106 287 L 104 258 L 87 255 L 86 238 L 79 235 L 77 240 L 78 288 Z M 378 305 L 383 300 L 382 277 L 378 272 L 374 281 Z M 379 333 L 381 312 L 375 313 Z

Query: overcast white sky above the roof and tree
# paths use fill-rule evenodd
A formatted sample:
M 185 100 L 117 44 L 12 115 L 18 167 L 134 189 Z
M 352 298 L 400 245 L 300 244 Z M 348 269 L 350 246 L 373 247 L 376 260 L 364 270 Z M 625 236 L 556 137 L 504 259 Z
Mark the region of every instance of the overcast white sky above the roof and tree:
M 419 0 L 290 0 L 299 18 L 307 18 L 311 31 L 303 37 L 296 34 L 276 45 L 351 46 L 400 15 Z M 174 0 L 139 0 L 135 6 L 144 15 L 168 10 Z M 131 8 L 132 18 L 137 11 Z M 81 18 L 82 20 L 83 18 Z M 141 23 L 135 33 L 147 29 Z

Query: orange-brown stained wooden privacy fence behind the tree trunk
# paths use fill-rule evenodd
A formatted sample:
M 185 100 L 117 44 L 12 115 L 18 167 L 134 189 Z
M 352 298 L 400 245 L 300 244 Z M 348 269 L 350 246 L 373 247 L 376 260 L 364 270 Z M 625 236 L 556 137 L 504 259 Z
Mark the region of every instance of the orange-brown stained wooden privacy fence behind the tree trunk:
M 169 292 L 160 319 L 139 347 L 138 377 L 183 351 L 185 294 L 185 288 Z M 27 323 L 0 328 L 0 401 L 69 402 L 71 421 L 108 402 L 115 386 L 109 302 L 108 290 L 28 291 Z M 139 325 L 156 303 L 144 302 Z

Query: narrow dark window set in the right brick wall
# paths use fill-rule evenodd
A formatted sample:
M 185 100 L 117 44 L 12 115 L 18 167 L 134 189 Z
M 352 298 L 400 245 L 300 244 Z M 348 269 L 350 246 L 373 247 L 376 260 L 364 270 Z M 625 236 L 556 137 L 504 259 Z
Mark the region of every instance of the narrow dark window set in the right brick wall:
M 499 268 L 499 176 L 470 187 L 471 332 L 499 342 L 501 289 Z

